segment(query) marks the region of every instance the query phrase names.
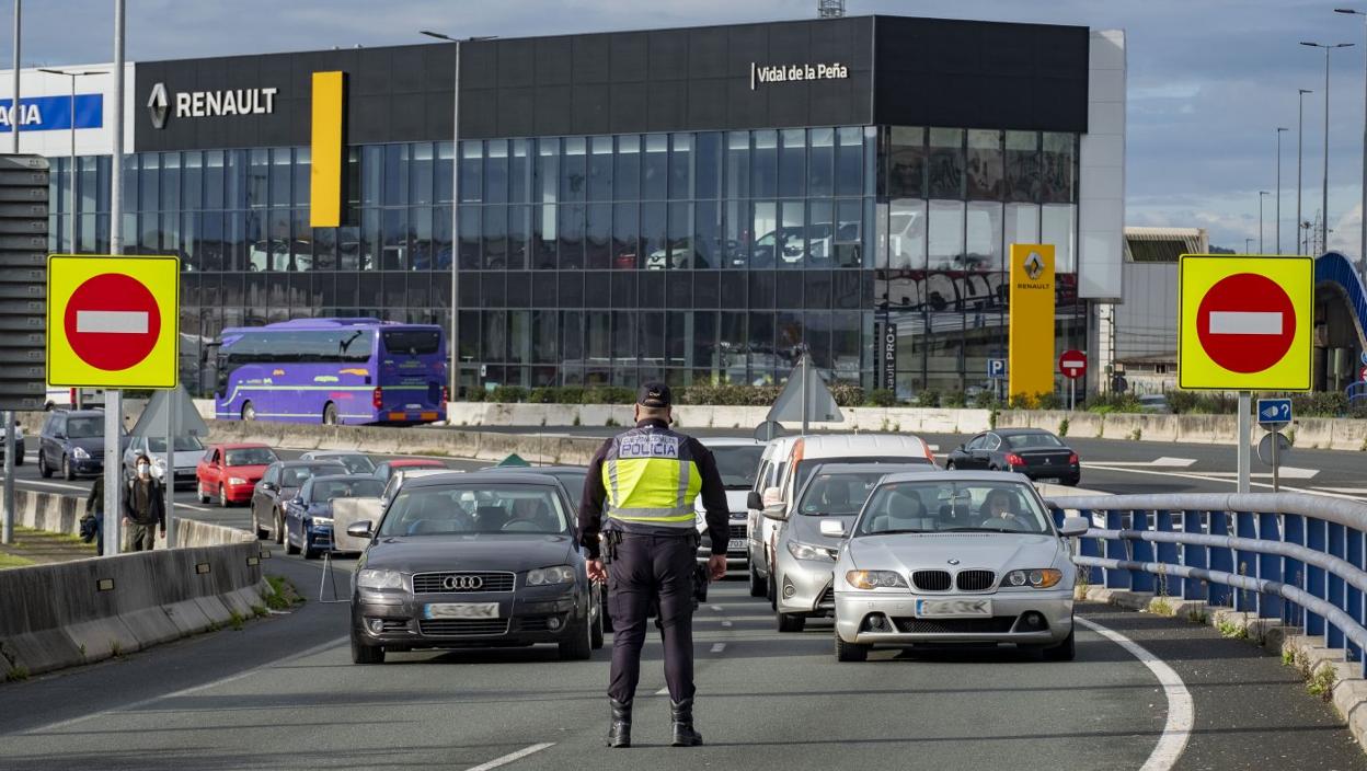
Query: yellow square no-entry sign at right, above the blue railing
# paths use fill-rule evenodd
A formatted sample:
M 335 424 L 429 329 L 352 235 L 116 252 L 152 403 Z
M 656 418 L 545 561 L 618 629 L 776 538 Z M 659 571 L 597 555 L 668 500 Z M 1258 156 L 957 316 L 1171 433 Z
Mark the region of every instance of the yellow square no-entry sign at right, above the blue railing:
M 1177 276 L 1181 388 L 1311 388 L 1312 257 L 1182 254 Z

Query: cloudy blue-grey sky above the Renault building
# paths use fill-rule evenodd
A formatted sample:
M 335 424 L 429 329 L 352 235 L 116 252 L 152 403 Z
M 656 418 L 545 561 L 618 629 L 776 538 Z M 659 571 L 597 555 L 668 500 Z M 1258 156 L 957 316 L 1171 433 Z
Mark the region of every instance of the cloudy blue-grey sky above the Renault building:
M 0 62 L 12 57 L 12 0 L 0 1 Z M 1299 41 L 1352 42 L 1330 56 L 1329 245 L 1357 256 L 1367 0 L 846 0 L 849 15 L 898 14 L 1122 29 L 1129 57 L 1126 220 L 1204 227 L 1213 245 L 1258 249 L 1259 190 L 1277 191 L 1281 239 L 1295 250 L 1297 89 L 1304 97 L 1303 211 L 1321 209 L 1325 53 Z M 22 60 L 112 59 L 113 0 L 26 0 Z M 127 0 L 131 62 L 421 42 L 420 29 L 522 37 L 804 19 L 816 0 Z M 1275 252 L 1275 194 L 1264 252 Z

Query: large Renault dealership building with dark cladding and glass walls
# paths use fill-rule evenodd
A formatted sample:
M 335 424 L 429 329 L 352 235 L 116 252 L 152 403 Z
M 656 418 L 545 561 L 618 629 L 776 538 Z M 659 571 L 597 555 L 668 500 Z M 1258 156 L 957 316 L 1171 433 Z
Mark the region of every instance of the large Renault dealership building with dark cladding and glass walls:
M 767 383 L 805 349 L 972 391 L 1010 243 L 1055 246 L 1058 350 L 1121 295 L 1124 46 L 863 16 L 466 42 L 459 85 L 440 42 L 138 62 L 126 250 L 179 254 L 200 392 L 221 328 L 306 316 L 448 325 L 463 390 Z M 68 87 L 23 74 L 26 104 Z M 52 250 L 98 253 L 112 112 L 77 87 L 75 211 L 66 126 L 22 149 L 52 157 Z

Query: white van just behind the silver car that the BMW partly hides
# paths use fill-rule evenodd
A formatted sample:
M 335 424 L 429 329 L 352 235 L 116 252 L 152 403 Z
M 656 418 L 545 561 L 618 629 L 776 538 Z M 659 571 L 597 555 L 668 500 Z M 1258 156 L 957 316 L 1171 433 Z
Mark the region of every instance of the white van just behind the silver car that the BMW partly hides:
M 928 463 L 935 465 L 935 454 L 920 436 L 897 433 L 826 433 L 816 436 L 786 437 L 786 454 L 776 468 L 776 483 L 770 484 L 750 498 L 760 503 L 757 559 L 750 558 L 750 593 L 767 596 L 770 604 L 778 606 L 778 588 L 774 585 L 774 550 L 778 548 L 778 535 L 793 510 L 794 500 L 808 477 L 822 463 Z M 772 444 L 771 444 L 772 446 Z M 760 469 L 756 484 L 764 483 L 764 468 Z M 764 483 L 768 484 L 768 483 Z M 757 498 L 757 500 L 756 500 Z M 763 567 L 763 592 L 757 592 L 756 567 Z

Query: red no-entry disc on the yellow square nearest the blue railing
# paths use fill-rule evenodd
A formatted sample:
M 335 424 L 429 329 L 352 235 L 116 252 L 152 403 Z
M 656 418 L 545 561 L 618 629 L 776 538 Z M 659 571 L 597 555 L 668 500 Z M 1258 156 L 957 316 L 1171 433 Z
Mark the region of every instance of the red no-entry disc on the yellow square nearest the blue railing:
M 1296 306 L 1277 282 L 1234 273 L 1210 287 L 1196 310 L 1196 335 L 1215 364 L 1244 375 L 1270 369 L 1296 338 Z

